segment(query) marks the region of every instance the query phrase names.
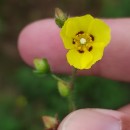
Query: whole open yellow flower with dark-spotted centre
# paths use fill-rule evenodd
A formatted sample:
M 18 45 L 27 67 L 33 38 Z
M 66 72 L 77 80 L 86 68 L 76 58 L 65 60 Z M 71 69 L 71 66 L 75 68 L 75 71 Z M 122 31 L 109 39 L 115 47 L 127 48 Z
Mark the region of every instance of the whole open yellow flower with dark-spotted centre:
M 67 61 L 77 69 L 89 69 L 103 56 L 110 42 L 110 28 L 91 15 L 68 18 L 60 32 L 68 49 Z

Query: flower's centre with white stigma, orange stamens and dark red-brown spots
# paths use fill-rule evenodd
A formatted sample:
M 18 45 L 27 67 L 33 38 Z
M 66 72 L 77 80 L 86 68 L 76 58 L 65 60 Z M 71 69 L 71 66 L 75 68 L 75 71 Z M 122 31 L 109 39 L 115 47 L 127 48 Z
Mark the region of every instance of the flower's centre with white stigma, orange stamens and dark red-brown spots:
M 93 35 L 80 31 L 75 35 L 72 43 L 75 45 L 79 53 L 84 53 L 85 51 L 92 51 L 93 41 Z

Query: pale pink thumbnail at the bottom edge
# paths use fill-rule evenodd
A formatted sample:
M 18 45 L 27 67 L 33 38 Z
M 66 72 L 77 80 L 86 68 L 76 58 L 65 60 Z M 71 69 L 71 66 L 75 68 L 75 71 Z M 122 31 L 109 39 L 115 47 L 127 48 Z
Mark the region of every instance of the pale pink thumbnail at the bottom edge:
M 114 116 L 91 109 L 81 109 L 69 114 L 58 130 L 121 130 L 121 121 Z

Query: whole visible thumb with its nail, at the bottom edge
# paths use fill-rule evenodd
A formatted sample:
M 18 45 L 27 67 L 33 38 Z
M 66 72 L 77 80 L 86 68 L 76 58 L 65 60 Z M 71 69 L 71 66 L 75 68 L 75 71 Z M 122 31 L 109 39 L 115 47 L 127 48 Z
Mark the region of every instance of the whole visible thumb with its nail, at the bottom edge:
M 58 130 L 129 130 L 129 128 L 130 117 L 124 112 L 80 109 L 69 114 L 61 122 Z

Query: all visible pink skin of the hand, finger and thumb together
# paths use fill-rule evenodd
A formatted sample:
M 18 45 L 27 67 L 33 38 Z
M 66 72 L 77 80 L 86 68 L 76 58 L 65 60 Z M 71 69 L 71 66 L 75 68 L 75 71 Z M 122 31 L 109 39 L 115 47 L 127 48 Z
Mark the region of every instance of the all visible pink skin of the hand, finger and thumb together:
M 79 75 L 96 75 L 113 80 L 130 82 L 130 19 L 105 19 L 111 27 L 111 42 L 101 61 Z M 19 35 L 18 49 L 23 60 L 32 66 L 36 57 L 47 58 L 55 73 L 70 74 L 66 52 L 59 36 L 60 29 L 53 19 L 34 22 Z M 129 130 L 130 105 L 117 111 L 104 109 L 81 109 L 69 114 L 59 130 Z M 93 118 L 92 118 L 93 117 Z M 100 120 L 100 121 L 99 121 Z M 80 123 L 79 123 L 80 121 Z

